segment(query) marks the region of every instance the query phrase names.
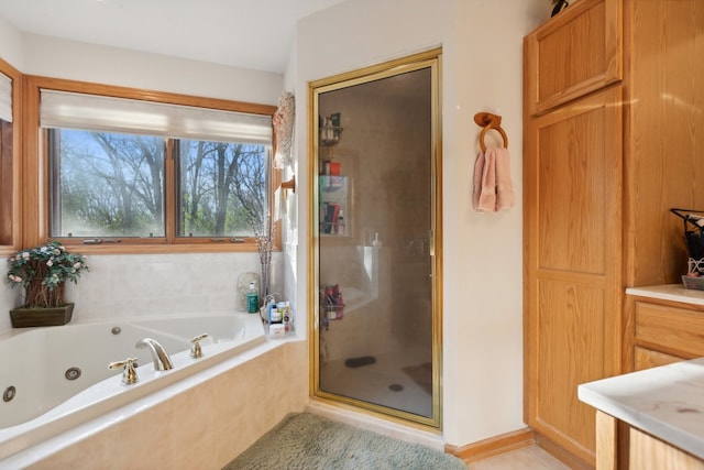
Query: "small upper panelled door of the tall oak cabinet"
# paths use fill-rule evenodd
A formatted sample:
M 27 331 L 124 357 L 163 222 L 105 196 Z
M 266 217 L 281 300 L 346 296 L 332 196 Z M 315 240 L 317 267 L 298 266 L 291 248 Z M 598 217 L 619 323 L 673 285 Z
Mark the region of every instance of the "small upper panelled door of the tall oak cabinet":
M 524 40 L 534 116 L 623 78 L 622 2 L 581 0 Z

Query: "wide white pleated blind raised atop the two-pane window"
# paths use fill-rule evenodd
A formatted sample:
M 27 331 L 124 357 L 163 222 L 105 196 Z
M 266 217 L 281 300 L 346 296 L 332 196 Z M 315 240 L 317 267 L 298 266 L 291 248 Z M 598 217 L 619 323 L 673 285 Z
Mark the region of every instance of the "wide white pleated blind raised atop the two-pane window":
M 42 90 L 43 128 L 272 143 L 272 117 L 135 99 Z

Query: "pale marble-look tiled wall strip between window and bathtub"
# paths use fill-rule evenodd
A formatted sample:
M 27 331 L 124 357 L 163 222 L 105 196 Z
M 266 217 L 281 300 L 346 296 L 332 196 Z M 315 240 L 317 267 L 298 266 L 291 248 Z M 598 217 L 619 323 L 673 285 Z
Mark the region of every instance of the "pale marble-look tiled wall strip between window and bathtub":
M 89 254 L 88 265 L 77 285 L 66 284 L 74 320 L 234 311 L 238 276 L 261 272 L 256 252 Z M 282 253 L 272 253 L 272 287 L 280 293 L 283 266 Z M 21 304 L 20 294 L 1 283 L 0 331 L 11 328 L 7 311 Z

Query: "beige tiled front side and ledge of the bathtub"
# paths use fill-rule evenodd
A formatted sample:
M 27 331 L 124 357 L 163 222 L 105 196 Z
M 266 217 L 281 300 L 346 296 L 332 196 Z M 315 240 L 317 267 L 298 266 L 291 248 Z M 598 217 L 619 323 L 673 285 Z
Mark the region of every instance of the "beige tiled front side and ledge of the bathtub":
M 267 340 L 20 451 L 0 468 L 222 468 L 307 403 L 307 347 Z

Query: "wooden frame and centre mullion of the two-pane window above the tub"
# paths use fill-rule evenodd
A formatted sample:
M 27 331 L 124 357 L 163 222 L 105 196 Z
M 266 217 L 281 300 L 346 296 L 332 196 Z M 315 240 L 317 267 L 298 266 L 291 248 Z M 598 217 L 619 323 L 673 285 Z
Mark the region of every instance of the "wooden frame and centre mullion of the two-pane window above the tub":
M 117 254 L 117 253 L 191 253 L 191 252 L 255 252 L 257 251 L 254 237 L 244 238 L 244 241 L 230 242 L 227 237 L 212 238 L 184 238 L 174 233 L 175 223 L 175 172 L 172 159 L 166 159 L 168 166 L 165 174 L 172 177 L 165 178 L 166 192 L 166 237 L 158 239 L 123 239 L 119 243 L 85 244 L 86 238 L 57 238 L 50 237 L 50 164 L 48 150 L 43 144 L 45 130 L 40 127 L 40 96 L 42 89 L 59 91 L 81 92 L 89 95 L 109 96 L 117 98 L 138 99 L 152 102 L 211 108 L 226 111 L 249 112 L 255 114 L 273 116 L 276 107 L 270 105 L 256 105 L 242 101 L 230 101 L 217 98 L 204 98 L 189 95 L 143 90 L 136 88 L 119 87 L 111 85 L 90 84 L 85 81 L 66 80 L 41 76 L 24 76 L 23 87 L 23 178 L 22 196 L 24 207 L 31 210 L 24 211 L 23 244 L 36 245 L 52 240 L 59 240 L 66 245 L 76 247 L 82 253 Z M 274 138 L 274 136 L 273 136 Z M 170 141 L 167 141 L 170 142 Z M 275 142 L 273 142 L 273 146 Z M 268 210 L 274 212 L 274 190 L 280 184 L 280 171 L 268 162 Z M 170 220 L 169 220 L 170 219 Z M 274 223 L 274 249 L 280 250 L 280 222 Z M 215 240 L 215 241 L 213 241 Z M 241 240 L 241 239 L 238 239 Z

